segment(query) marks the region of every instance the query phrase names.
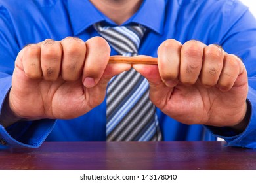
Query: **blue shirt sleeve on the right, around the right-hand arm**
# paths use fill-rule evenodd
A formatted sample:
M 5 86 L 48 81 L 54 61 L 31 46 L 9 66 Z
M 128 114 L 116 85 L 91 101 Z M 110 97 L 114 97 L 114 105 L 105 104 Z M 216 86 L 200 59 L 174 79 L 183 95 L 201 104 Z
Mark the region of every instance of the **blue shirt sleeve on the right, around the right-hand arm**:
M 234 133 L 228 127 L 208 127 L 213 135 L 223 138 L 228 146 L 256 148 L 256 20 L 248 8 L 233 1 L 226 11 L 222 46 L 224 50 L 239 56 L 247 69 L 249 92 L 247 102 L 251 110 L 249 124 L 244 132 Z

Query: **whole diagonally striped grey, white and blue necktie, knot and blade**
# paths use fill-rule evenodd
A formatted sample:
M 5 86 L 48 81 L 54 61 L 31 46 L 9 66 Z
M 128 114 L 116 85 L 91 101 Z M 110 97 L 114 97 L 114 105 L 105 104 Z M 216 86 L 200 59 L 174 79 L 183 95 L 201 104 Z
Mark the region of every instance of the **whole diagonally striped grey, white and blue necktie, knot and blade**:
M 96 31 L 123 56 L 136 56 L 146 29 L 141 26 L 102 27 Z M 151 103 L 149 85 L 135 69 L 114 76 L 106 94 L 107 141 L 161 141 L 156 108 Z

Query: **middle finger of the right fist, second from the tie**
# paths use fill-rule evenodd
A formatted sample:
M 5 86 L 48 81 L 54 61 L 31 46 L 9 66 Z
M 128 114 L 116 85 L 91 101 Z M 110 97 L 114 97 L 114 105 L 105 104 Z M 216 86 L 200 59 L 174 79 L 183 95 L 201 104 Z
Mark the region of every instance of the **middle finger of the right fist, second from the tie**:
M 195 84 L 200 75 L 205 44 L 199 41 L 185 42 L 181 48 L 179 80 L 183 84 Z

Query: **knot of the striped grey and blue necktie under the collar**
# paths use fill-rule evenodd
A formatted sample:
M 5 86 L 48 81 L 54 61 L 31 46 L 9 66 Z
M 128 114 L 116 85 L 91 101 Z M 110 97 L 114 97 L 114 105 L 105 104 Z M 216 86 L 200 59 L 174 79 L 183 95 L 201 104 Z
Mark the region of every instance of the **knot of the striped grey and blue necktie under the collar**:
M 99 22 L 94 27 L 109 42 L 110 46 L 124 56 L 138 54 L 140 40 L 146 31 L 141 25 L 110 27 L 102 26 Z

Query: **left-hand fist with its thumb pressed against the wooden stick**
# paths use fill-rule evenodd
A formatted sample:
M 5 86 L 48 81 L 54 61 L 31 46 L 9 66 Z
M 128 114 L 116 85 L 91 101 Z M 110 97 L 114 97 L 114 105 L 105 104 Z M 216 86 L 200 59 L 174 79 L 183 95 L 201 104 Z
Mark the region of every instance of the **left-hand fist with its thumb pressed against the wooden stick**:
M 30 44 L 16 58 L 9 107 L 33 120 L 81 116 L 102 103 L 112 76 L 131 68 L 108 64 L 109 57 L 110 46 L 100 37 Z

